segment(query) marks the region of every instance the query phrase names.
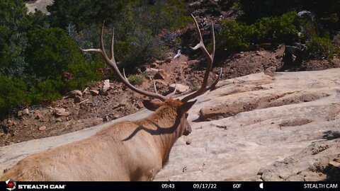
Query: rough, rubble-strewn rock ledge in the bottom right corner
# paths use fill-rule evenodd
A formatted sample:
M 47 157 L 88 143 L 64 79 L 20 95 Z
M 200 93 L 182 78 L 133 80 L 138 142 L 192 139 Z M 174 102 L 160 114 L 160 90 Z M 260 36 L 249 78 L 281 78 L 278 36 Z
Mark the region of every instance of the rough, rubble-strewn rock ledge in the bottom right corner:
M 340 181 L 340 139 L 336 137 L 339 132 L 324 132 L 324 138 L 331 140 L 313 142 L 297 154 L 261 168 L 257 175 L 265 181 Z

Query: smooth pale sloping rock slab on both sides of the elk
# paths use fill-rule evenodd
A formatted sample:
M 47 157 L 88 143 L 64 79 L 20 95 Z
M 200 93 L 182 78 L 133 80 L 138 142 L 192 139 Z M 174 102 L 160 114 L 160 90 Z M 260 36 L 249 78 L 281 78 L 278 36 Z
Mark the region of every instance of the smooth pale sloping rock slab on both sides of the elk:
M 338 180 L 339 74 L 259 73 L 221 81 L 189 111 L 192 132 L 176 141 L 155 180 Z M 210 109 L 215 112 L 202 117 Z M 0 173 L 28 154 L 84 139 L 108 124 L 3 146 Z

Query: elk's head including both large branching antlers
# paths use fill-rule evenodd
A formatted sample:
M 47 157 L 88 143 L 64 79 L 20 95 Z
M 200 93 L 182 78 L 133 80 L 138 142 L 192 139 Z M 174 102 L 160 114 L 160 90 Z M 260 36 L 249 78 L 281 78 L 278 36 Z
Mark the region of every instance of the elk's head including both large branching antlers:
M 191 133 L 191 125 L 189 125 L 188 120 L 187 120 L 187 117 L 188 117 L 187 112 L 193 106 L 193 104 L 196 103 L 196 100 L 193 100 L 193 101 L 189 101 L 189 100 L 192 100 L 193 98 L 196 98 L 197 96 L 202 95 L 203 93 L 210 90 L 211 88 L 214 88 L 222 74 L 222 69 L 221 69 L 220 74 L 217 77 L 217 79 L 215 79 L 215 81 L 210 86 L 207 86 L 208 77 L 209 77 L 210 70 L 212 68 L 212 62 L 214 60 L 214 54 L 215 54 L 214 27 L 212 25 L 212 53 L 210 54 L 208 50 L 205 48 L 205 45 L 203 43 L 202 34 L 200 33 L 200 28 L 198 26 L 196 18 L 193 15 L 191 16 L 193 17 L 193 20 L 196 23 L 196 28 L 200 36 L 200 42 L 195 47 L 191 47 L 191 48 L 193 50 L 197 50 L 198 48 L 200 48 L 205 54 L 205 56 L 208 57 L 208 64 L 205 70 L 202 85 L 200 86 L 198 91 L 189 94 L 188 96 L 182 98 L 181 100 L 179 99 L 175 100 L 171 98 L 171 96 L 174 96 L 174 94 L 176 93 L 176 88 L 172 93 L 169 93 L 167 96 L 163 96 L 157 93 L 157 88 L 155 84 L 154 84 L 154 92 L 144 91 L 140 88 L 133 86 L 126 78 L 124 69 L 123 69 L 123 74 L 121 74 L 115 62 L 114 51 L 113 51 L 114 31 L 113 31 L 113 35 L 111 38 L 111 59 L 106 54 L 106 50 L 103 45 L 104 24 L 101 28 L 101 35 L 99 39 L 100 48 L 83 50 L 84 52 L 99 52 L 102 55 L 106 64 L 108 64 L 108 66 L 111 66 L 113 71 L 115 71 L 115 74 L 117 74 L 118 79 L 120 79 L 120 81 L 122 81 L 125 84 L 125 86 L 128 86 L 128 88 L 130 88 L 132 91 L 140 93 L 144 96 L 157 99 L 157 100 L 144 100 L 143 101 L 143 105 L 145 105 L 145 108 L 147 108 L 148 110 L 155 111 L 156 113 L 159 113 L 160 115 L 164 115 L 164 113 L 166 113 L 166 110 L 169 110 L 169 108 L 171 108 L 170 110 L 174 110 L 176 112 L 176 121 L 179 122 L 179 125 L 176 126 L 176 134 L 178 135 L 178 137 L 181 137 L 182 134 L 188 135 Z

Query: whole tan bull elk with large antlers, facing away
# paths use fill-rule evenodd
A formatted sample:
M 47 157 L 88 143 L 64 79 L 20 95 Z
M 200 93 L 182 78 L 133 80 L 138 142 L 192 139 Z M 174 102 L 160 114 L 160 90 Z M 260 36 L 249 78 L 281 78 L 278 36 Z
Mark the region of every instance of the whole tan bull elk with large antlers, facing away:
M 202 86 L 198 91 L 179 99 L 171 99 L 173 93 L 163 96 L 144 91 L 129 83 L 120 73 L 115 62 L 113 39 L 111 40 L 111 59 L 103 45 L 103 27 L 100 35 L 100 48 L 85 52 L 99 52 L 106 64 L 111 66 L 118 78 L 137 93 L 158 100 L 145 100 L 148 110 L 155 111 L 149 117 L 137 121 L 118 122 L 80 141 L 59 146 L 55 149 L 33 154 L 19 161 L 0 178 L 7 180 L 153 180 L 155 175 L 168 161 L 171 147 L 181 135 L 191 133 L 187 121 L 188 110 L 196 103 L 192 100 L 215 86 L 217 79 L 207 86 L 215 52 L 215 35 L 212 26 L 212 54 L 203 44 L 198 23 L 196 28 L 200 42 L 193 50 L 200 48 L 208 57 Z M 221 70 L 222 71 L 222 70 Z M 221 75 L 221 72 L 220 72 Z

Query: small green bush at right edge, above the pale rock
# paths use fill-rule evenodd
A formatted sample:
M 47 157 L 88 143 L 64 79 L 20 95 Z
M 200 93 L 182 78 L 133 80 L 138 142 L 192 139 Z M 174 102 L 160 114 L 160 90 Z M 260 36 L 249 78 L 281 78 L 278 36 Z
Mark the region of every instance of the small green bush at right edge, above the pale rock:
M 340 56 L 340 47 L 334 47 L 328 37 L 314 36 L 307 41 L 307 47 L 314 57 L 333 58 L 334 55 Z

